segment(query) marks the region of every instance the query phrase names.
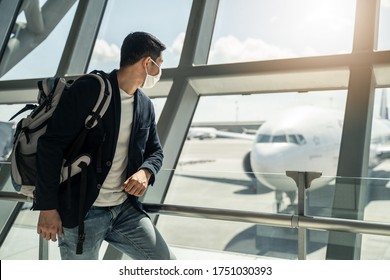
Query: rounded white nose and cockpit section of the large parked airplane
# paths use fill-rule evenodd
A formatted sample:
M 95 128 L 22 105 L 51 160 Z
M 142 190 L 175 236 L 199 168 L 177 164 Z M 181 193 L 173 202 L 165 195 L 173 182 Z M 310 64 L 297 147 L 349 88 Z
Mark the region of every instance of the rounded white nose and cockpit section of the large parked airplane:
M 333 180 L 337 171 L 342 116 L 337 111 L 299 107 L 265 122 L 257 131 L 251 167 L 265 186 L 289 192 L 297 189 L 286 171 L 316 171 L 318 187 Z

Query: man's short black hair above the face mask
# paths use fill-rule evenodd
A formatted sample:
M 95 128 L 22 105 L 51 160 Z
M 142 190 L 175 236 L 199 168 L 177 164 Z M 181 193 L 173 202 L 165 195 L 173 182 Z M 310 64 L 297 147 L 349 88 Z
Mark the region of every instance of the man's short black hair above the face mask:
M 130 33 L 123 40 L 120 67 L 135 64 L 147 56 L 156 61 L 165 49 L 165 45 L 152 34 L 147 32 Z

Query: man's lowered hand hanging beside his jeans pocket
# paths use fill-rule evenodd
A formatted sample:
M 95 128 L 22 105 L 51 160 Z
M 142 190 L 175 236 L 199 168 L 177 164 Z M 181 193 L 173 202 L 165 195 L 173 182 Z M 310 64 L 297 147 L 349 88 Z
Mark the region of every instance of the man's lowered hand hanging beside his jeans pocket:
M 57 210 L 42 210 L 39 213 L 37 233 L 52 241 L 57 241 L 57 235 L 62 237 L 62 221 Z

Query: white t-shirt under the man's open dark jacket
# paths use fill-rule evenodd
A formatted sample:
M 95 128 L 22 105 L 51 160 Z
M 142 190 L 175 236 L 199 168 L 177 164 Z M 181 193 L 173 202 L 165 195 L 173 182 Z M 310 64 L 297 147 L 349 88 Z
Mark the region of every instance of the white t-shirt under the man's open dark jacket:
M 129 95 L 122 89 L 119 89 L 119 91 L 121 95 L 121 119 L 118 142 L 111 169 L 100 189 L 99 196 L 93 204 L 100 207 L 119 205 L 127 198 L 127 194 L 122 191 L 121 186 L 127 179 L 126 167 L 133 123 L 134 95 Z

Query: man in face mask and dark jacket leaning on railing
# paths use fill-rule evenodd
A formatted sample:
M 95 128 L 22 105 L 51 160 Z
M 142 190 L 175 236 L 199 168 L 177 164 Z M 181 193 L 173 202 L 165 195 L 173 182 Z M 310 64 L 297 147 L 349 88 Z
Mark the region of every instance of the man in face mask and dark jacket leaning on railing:
M 76 80 L 39 139 L 33 206 L 40 210 L 37 232 L 46 240 L 59 237 L 62 259 L 98 259 L 103 240 L 133 259 L 174 259 L 138 201 L 163 160 L 153 104 L 139 88 L 150 88 L 159 80 L 164 50 L 164 44 L 145 32 L 124 39 L 120 68 L 107 75 L 110 105 L 81 151 L 92 158 L 83 211 L 81 175 L 72 177 L 70 187 L 60 184 L 59 178 L 64 154 L 96 103 L 99 82 Z M 85 240 L 78 228 L 80 212 Z M 82 254 L 76 254 L 78 245 Z

